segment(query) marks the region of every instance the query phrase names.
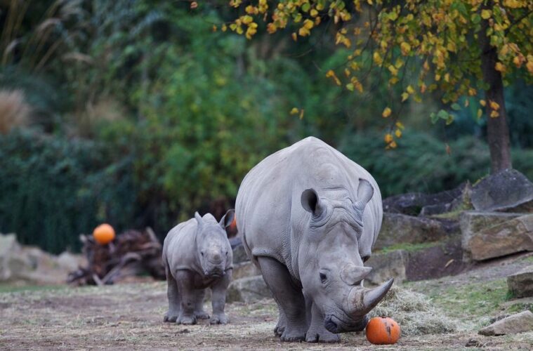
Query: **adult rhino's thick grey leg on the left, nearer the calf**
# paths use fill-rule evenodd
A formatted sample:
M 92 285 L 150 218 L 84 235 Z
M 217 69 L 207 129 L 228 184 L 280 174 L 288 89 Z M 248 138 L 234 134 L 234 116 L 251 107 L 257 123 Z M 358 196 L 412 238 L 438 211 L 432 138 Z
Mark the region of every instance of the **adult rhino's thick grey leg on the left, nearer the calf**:
M 263 279 L 272 291 L 272 296 L 274 296 L 280 311 L 275 333 L 282 333 L 282 341 L 305 340 L 308 323 L 305 318 L 305 300 L 301 289 L 294 285 L 287 267 L 277 260 L 259 256 L 258 263 L 263 273 Z M 285 322 L 284 326 L 283 322 Z M 284 330 L 282 331 L 282 329 Z

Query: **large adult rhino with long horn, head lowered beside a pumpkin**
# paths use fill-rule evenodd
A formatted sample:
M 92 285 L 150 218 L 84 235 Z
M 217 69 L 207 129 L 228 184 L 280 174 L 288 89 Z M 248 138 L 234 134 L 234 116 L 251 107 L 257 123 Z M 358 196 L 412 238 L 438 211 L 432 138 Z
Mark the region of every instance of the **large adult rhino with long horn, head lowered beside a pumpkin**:
M 270 155 L 244 178 L 237 228 L 279 307 L 284 341 L 361 331 L 393 280 L 362 285 L 383 210 L 374 178 L 317 138 Z

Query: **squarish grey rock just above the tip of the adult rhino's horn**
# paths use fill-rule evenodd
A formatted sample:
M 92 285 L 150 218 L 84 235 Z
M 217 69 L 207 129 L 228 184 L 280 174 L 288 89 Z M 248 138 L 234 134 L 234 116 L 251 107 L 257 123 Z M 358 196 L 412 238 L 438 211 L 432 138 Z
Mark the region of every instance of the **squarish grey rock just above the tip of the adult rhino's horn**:
M 394 278 L 396 283 L 407 279 L 406 267 L 409 262 L 409 253 L 404 250 L 395 250 L 388 253 L 374 253 L 365 263 L 372 267 L 370 274 L 364 279 L 365 285 L 376 286 Z

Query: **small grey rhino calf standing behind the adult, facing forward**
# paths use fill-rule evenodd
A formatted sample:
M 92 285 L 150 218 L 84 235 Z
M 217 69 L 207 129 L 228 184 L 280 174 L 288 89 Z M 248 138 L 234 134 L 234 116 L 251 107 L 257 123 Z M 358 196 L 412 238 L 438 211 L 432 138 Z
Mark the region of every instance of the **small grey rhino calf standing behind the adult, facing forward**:
M 211 288 L 211 324 L 226 324 L 226 289 L 231 282 L 233 254 L 225 232 L 235 216 L 228 211 L 219 223 L 207 213 L 173 227 L 163 245 L 169 310 L 165 322 L 196 324 L 208 319 L 204 311 L 205 289 Z

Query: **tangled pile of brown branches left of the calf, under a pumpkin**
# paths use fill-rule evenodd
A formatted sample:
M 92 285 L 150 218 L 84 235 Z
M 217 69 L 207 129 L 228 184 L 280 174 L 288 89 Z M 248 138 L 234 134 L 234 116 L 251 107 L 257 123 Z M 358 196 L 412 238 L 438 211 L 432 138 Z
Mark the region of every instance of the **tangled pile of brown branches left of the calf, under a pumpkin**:
M 98 244 L 92 235 L 81 234 L 82 252 L 88 267 L 79 267 L 67 277 L 74 285 L 113 284 L 119 279 L 138 274 L 150 274 L 165 279 L 162 245 L 151 228 L 143 232 L 123 232 L 109 244 Z

